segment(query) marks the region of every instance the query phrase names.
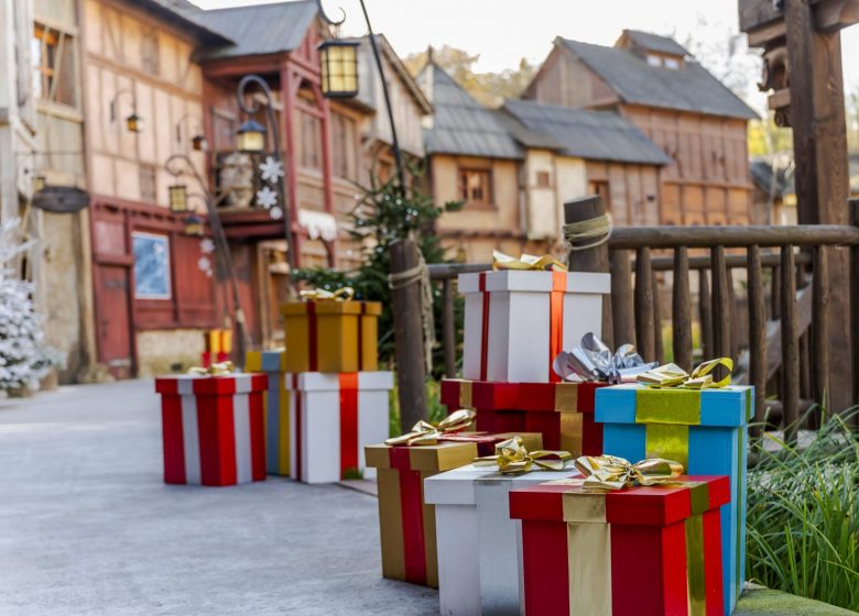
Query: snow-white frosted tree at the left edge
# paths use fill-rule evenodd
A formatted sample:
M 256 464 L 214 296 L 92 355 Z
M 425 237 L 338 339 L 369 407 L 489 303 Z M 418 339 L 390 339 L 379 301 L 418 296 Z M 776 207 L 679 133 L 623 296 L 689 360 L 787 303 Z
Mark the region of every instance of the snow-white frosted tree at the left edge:
M 19 239 L 19 220 L 0 227 L 0 389 L 32 387 L 62 354 L 43 342 L 42 317 L 35 310 L 33 285 L 17 277 L 13 260 L 32 243 Z

